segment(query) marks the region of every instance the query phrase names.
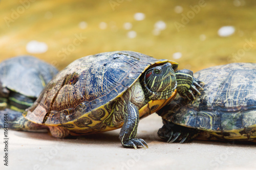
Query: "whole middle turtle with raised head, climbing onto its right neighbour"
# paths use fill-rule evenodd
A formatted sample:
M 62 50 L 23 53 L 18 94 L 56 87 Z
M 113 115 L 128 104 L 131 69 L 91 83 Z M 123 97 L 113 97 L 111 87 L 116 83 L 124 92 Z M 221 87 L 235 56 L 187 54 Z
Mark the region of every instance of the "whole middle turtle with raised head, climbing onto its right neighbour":
M 123 147 L 147 148 L 135 138 L 139 119 L 164 106 L 176 87 L 186 96 L 198 85 L 188 70 L 179 70 L 176 81 L 177 66 L 130 51 L 83 57 L 60 71 L 24 116 L 59 138 L 121 128 Z

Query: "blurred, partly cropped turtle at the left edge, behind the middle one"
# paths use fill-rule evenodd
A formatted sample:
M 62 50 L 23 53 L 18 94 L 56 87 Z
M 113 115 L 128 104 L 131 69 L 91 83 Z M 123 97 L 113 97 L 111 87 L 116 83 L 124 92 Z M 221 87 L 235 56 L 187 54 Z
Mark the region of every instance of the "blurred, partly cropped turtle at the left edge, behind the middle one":
M 33 56 L 17 56 L 0 63 L 0 127 L 41 130 L 44 126 L 29 122 L 22 113 L 32 106 L 44 86 L 58 70 Z

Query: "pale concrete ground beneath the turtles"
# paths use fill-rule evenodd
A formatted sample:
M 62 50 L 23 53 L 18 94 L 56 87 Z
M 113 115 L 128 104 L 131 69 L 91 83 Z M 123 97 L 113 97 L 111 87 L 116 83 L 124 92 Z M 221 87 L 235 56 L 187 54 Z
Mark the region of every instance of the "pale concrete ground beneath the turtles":
M 157 136 L 161 126 L 156 114 L 140 121 L 137 137 L 147 142 L 146 150 L 122 148 L 119 130 L 74 139 L 9 130 L 8 167 L 0 129 L 0 169 L 256 169 L 253 143 L 165 143 Z

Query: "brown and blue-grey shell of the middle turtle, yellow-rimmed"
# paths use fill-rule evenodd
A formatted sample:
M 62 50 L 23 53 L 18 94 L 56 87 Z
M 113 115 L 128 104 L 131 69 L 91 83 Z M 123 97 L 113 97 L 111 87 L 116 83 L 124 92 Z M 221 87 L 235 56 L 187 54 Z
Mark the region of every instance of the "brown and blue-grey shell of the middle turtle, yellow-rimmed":
M 166 62 L 172 63 L 174 68 L 178 66 L 173 61 L 130 51 L 80 58 L 56 75 L 24 115 L 37 124 L 62 126 L 73 131 L 78 128 L 112 130 L 101 127 L 102 121 L 110 121 L 111 105 L 148 67 Z

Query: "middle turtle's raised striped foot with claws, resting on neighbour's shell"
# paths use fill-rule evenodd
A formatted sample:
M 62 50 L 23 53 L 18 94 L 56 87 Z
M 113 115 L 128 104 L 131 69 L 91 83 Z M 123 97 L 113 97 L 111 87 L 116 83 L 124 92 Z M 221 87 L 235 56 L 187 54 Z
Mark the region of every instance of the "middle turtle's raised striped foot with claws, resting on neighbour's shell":
M 181 69 L 175 72 L 177 80 L 177 91 L 182 98 L 187 98 L 189 101 L 195 100 L 195 94 L 201 94 L 197 89 L 199 87 L 203 90 L 200 85 L 202 82 L 193 77 L 193 71 L 189 69 Z

